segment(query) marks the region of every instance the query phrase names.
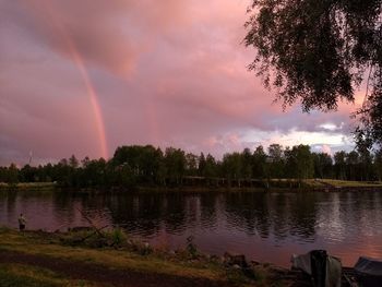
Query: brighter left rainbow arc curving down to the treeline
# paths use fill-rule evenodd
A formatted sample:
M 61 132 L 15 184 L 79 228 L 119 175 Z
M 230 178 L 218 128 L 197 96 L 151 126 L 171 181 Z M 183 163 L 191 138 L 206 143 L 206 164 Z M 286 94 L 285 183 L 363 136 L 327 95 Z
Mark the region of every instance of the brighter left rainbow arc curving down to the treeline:
M 85 84 L 86 93 L 87 93 L 88 98 L 91 100 L 92 109 L 93 109 L 94 117 L 95 117 L 96 129 L 97 129 L 97 133 L 98 133 L 98 137 L 99 137 L 100 153 L 102 153 L 102 156 L 105 159 L 107 159 L 108 158 L 107 137 L 106 137 L 106 132 L 105 132 L 104 117 L 103 117 L 103 112 L 102 112 L 100 105 L 98 101 L 98 96 L 97 96 L 96 91 L 92 84 L 92 80 L 87 73 L 84 61 L 82 60 L 80 52 L 75 48 L 75 44 L 73 43 L 70 35 L 67 33 L 67 29 L 64 28 L 64 26 L 58 20 L 59 15 L 53 12 L 53 9 L 51 7 L 51 2 L 48 1 L 48 2 L 46 2 L 46 4 L 47 4 L 46 7 L 49 9 L 49 12 L 50 12 L 51 22 L 56 26 L 56 28 L 59 31 L 59 34 L 62 37 L 62 39 L 65 41 L 65 45 L 69 49 L 70 57 L 74 61 L 75 67 L 79 69 L 80 74 L 82 76 L 82 80 Z

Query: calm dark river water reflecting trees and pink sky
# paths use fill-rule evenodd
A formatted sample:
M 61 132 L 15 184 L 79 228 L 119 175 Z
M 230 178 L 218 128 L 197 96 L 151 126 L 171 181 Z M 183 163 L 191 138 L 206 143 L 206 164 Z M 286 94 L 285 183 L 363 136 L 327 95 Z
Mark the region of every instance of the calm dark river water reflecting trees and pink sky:
M 359 255 L 382 258 L 382 193 L 216 193 L 79 195 L 0 193 L 0 225 L 65 230 L 120 225 L 156 246 L 182 247 L 192 235 L 208 253 L 244 253 L 289 266 L 291 253 L 326 249 L 353 265 Z

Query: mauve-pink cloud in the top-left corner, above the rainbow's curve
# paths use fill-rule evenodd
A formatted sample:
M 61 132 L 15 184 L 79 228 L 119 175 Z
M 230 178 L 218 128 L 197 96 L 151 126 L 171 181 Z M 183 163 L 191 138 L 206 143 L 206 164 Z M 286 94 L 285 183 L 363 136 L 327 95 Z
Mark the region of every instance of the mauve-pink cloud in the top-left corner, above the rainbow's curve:
M 118 23 L 127 1 L 15 0 L 2 5 L 8 25 L 64 57 L 73 57 L 75 49 L 86 62 L 112 73 L 133 69 L 139 47 Z

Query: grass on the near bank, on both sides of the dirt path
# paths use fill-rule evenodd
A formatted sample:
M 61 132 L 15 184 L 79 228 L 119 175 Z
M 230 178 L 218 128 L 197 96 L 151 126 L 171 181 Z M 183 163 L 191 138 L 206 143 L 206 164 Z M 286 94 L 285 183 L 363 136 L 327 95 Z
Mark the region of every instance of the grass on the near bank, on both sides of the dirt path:
M 44 255 L 76 263 L 96 264 L 109 270 L 124 270 L 143 274 L 171 275 L 186 278 L 227 282 L 232 286 L 271 286 L 272 270 L 262 265 L 254 266 L 255 276 L 249 278 L 239 270 L 227 268 L 222 262 L 208 256 L 192 254 L 188 249 L 170 254 L 164 250 L 134 243 L 135 249 L 128 248 L 88 248 L 86 246 L 68 246 L 71 234 L 47 234 L 26 231 L 21 234 L 0 227 L 0 250 L 14 251 L 32 255 Z M 120 230 L 109 232 L 111 239 L 126 240 Z M 121 244 L 123 246 L 123 244 Z M 143 248 L 143 249 L 142 249 Z M 98 286 L 94 283 L 71 280 L 51 271 L 23 264 L 0 264 L 0 286 Z M 103 285 L 104 286 L 104 285 Z

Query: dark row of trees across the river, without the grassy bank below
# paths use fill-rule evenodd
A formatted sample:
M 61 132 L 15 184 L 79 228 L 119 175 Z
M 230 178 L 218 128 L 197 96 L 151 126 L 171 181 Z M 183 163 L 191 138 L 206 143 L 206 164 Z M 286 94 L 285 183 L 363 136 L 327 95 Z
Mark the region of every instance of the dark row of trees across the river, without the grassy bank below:
M 195 155 L 180 148 L 164 152 L 152 145 L 120 146 L 109 160 L 104 158 L 81 162 L 72 155 L 57 164 L 34 167 L 0 167 L 0 182 L 50 182 L 61 187 L 92 188 L 136 186 L 175 187 L 184 179 L 235 180 L 266 179 L 341 179 L 371 181 L 382 179 L 382 152 L 371 154 L 367 148 L 349 153 L 337 152 L 332 157 L 312 153 L 309 145 L 284 148 L 272 144 L 266 151 L 258 146 L 253 152 L 225 154 L 216 160 L 211 154 Z

